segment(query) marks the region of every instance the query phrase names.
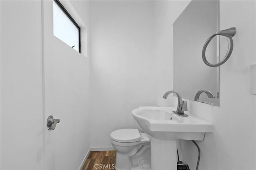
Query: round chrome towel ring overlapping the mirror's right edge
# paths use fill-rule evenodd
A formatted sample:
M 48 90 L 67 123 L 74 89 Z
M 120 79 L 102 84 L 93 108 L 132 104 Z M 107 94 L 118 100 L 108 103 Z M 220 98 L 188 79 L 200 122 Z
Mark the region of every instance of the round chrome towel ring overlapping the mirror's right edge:
M 226 30 L 222 30 L 222 31 L 219 31 L 219 32 L 216 32 L 215 34 L 213 34 L 212 36 L 210 36 L 210 38 L 208 38 L 208 40 L 206 40 L 205 44 L 204 44 L 204 47 L 203 47 L 203 50 L 202 50 L 202 58 L 203 58 L 203 61 L 206 65 L 208 65 L 209 67 L 218 67 L 222 64 L 224 64 L 228 58 L 230 57 L 232 51 L 233 51 L 233 40 L 232 40 L 232 37 L 236 34 L 236 28 L 235 27 L 232 27 L 232 28 L 228 28 Z M 228 41 L 228 51 L 225 55 L 225 57 L 217 64 L 211 64 L 207 61 L 206 59 L 206 56 L 205 56 L 205 51 L 206 51 L 206 47 L 208 46 L 208 44 L 210 43 L 210 41 L 212 40 L 212 38 L 214 38 L 215 36 L 217 35 L 220 35 L 220 36 L 225 36 L 227 37 L 227 41 Z

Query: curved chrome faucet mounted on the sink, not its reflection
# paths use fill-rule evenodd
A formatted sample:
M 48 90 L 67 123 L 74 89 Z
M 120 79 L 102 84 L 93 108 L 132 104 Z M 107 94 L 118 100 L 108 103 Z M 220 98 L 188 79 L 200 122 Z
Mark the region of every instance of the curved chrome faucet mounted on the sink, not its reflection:
M 184 113 L 184 111 L 188 111 L 188 106 L 187 106 L 187 101 L 183 101 L 182 97 L 180 95 L 180 93 L 178 91 L 167 91 L 166 93 L 164 93 L 163 98 L 167 99 L 168 95 L 170 95 L 171 93 L 175 93 L 178 97 L 178 106 L 177 106 L 177 110 L 176 111 L 172 111 L 173 113 L 176 113 L 179 116 L 188 116 Z

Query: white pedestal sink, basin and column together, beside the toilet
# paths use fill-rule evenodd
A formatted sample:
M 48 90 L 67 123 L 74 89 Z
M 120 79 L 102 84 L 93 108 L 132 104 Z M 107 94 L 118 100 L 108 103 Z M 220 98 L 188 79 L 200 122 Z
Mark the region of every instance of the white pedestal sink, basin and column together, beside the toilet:
M 139 107 L 132 116 L 139 127 L 151 136 L 151 169 L 177 170 L 176 140 L 203 140 L 213 125 L 188 114 L 180 117 L 174 107 Z

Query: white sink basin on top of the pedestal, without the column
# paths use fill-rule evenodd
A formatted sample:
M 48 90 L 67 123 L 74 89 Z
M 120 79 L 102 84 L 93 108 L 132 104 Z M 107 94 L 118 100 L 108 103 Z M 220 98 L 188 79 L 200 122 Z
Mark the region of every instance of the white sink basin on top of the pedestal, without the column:
M 188 114 L 180 117 L 173 113 L 174 107 L 139 107 L 132 116 L 139 127 L 150 136 L 160 140 L 203 140 L 204 134 L 213 132 L 214 126 Z

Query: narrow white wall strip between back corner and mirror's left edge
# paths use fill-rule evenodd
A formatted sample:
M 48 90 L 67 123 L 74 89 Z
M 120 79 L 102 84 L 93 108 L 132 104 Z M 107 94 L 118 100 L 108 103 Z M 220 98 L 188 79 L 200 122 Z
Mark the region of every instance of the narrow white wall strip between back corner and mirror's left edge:
M 189 2 L 183 0 L 154 2 L 154 56 L 157 74 L 156 100 L 158 106 L 176 105 L 171 96 L 167 99 L 162 97 L 166 91 L 173 89 L 172 24 Z

